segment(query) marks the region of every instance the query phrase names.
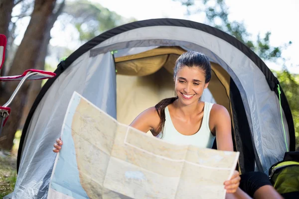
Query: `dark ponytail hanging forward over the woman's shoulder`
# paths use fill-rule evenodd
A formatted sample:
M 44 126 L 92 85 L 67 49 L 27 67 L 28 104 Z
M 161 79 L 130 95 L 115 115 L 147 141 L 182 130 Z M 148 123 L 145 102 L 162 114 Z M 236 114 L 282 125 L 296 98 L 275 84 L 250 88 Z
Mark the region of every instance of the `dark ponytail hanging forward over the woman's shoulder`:
M 160 117 L 160 123 L 159 123 L 158 129 L 157 129 L 156 135 L 154 135 L 154 136 L 157 136 L 160 132 L 163 136 L 163 128 L 164 128 L 164 124 L 165 124 L 165 108 L 169 104 L 173 103 L 173 101 L 175 101 L 176 99 L 178 99 L 178 97 L 166 98 L 164 100 L 161 100 L 159 103 L 157 103 L 154 106 L 159 117 Z

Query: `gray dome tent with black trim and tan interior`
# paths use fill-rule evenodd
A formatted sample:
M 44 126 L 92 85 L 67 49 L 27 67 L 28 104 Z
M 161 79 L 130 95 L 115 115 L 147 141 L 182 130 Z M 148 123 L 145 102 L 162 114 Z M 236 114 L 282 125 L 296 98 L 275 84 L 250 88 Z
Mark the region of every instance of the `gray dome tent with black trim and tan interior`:
M 125 24 L 88 41 L 62 61 L 25 122 L 17 157 L 16 198 L 47 195 L 52 152 L 74 91 L 130 122 L 144 109 L 172 97 L 172 68 L 183 52 L 204 53 L 212 79 L 202 100 L 224 105 L 232 118 L 239 170 L 268 172 L 295 151 L 292 113 L 280 83 L 265 63 L 233 36 L 205 24 L 150 19 Z

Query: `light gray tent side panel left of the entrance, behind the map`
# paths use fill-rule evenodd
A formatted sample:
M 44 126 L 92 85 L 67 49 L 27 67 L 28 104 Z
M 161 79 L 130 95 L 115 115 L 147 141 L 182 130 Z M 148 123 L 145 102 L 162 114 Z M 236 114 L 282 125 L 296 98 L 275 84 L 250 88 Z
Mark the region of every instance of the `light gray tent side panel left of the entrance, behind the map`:
M 67 89 L 66 89 L 67 88 Z M 116 73 L 111 53 L 89 58 L 88 53 L 64 71 L 41 103 L 29 126 L 13 199 L 46 199 L 63 118 L 73 92 L 116 118 Z

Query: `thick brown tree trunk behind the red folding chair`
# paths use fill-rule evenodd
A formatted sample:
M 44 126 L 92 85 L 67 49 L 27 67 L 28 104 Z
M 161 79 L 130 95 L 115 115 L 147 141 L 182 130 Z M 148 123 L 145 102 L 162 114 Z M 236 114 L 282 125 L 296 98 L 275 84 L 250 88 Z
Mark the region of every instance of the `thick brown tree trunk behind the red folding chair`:
M 48 23 L 56 0 L 35 0 L 34 9 L 24 37 L 15 53 L 8 76 L 22 74 L 26 69 L 33 68 L 37 60 L 44 37 L 44 31 Z M 4 104 L 19 82 L 8 82 L 5 84 L 6 93 L 0 98 L 0 104 Z M 29 82 L 19 90 L 13 102 L 10 104 L 11 112 L 0 136 L 0 148 L 11 150 L 14 134 L 22 116 L 24 101 L 28 91 Z

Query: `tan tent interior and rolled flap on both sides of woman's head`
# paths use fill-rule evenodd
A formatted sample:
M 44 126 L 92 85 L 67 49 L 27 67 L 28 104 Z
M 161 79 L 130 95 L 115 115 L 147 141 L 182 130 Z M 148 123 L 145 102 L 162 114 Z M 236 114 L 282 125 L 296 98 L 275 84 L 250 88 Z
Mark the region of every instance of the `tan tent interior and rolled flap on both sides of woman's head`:
M 115 57 L 117 70 L 117 119 L 130 124 L 146 108 L 164 98 L 174 97 L 173 67 L 186 50 L 158 47 L 142 53 Z M 227 108 L 231 118 L 229 99 L 230 75 L 211 62 L 212 77 L 203 100 L 216 102 Z

